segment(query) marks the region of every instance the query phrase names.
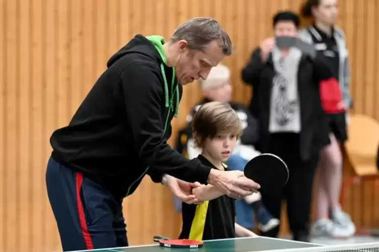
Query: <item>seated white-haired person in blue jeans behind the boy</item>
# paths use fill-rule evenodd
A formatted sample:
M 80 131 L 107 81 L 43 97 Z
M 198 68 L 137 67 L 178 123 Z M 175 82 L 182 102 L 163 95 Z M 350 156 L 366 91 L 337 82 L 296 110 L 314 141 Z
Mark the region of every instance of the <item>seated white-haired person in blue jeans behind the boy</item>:
M 248 108 L 239 102 L 231 101 L 232 85 L 231 71 L 222 64 L 213 67 L 205 80 L 199 80 L 204 98 L 198 102 L 192 109 L 191 114 L 187 117 L 188 126 L 184 130 L 186 139 L 186 151 L 188 157 L 193 159 L 197 157 L 201 150 L 194 147 L 191 129 L 191 121 L 199 107 L 207 102 L 222 101 L 229 103 L 230 106 L 237 112 L 240 120 L 243 133 L 234 149 L 231 157 L 226 161 L 226 165 L 231 170 L 243 171 L 249 160 L 258 156 L 260 153 L 255 150 L 254 145 L 258 142 L 258 122 L 249 112 Z M 183 137 L 183 135 L 181 135 Z M 180 141 L 180 139 L 178 139 Z M 262 231 L 268 231 L 277 225 L 279 220 L 272 217 L 261 201 L 260 193 L 254 193 L 247 196 L 244 200 L 236 201 L 237 223 L 247 229 L 254 228 L 253 216 L 256 215 L 258 227 Z

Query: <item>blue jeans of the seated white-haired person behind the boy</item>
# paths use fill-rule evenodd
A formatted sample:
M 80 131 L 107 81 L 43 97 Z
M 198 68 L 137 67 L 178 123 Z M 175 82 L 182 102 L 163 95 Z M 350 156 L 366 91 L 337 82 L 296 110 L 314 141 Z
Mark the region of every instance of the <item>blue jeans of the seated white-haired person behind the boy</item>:
M 232 155 L 225 164 L 232 171 L 244 171 L 248 160 L 239 155 Z M 246 203 L 245 200 L 236 200 L 237 223 L 245 228 L 254 228 L 254 211 L 253 207 Z

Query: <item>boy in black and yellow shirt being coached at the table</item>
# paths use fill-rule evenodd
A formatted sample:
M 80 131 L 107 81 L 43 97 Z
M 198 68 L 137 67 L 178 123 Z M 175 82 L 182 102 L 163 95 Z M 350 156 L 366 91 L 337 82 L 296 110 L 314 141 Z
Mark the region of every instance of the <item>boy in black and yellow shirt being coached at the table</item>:
M 229 159 L 241 134 L 241 121 L 228 104 L 218 101 L 200 106 L 192 121 L 193 139 L 202 149 L 197 159 L 205 166 L 228 171 Z M 212 185 L 194 188 L 192 193 L 203 203 L 183 203 L 180 239 L 210 240 L 256 236 L 235 223 L 234 199 Z M 242 199 L 241 195 L 234 195 Z

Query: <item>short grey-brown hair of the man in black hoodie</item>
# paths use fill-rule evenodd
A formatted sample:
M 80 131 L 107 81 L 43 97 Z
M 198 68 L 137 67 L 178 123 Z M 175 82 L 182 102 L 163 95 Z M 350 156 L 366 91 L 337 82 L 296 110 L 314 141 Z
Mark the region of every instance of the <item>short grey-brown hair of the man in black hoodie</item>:
M 212 41 L 217 41 L 226 56 L 233 53 L 232 41 L 221 25 L 212 18 L 194 18 L 181 24 L 171 36 L 171 42 L 185 40 L 189 49 L 204 51 Z

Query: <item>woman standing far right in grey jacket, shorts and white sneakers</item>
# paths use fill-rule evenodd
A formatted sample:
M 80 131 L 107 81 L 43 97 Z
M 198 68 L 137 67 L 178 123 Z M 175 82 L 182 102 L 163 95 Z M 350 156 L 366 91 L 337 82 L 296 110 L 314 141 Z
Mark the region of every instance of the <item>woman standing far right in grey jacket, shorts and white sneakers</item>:
M 320 176 L 317 185 L 317 220 L 312 225 L 316 236 L 348 237 L 355 233 L 350 216 L 339 205 L 342 183 L 342 154 L 340 144 L 347 140 L 346 115 L 352 106 L 350 68 L 344 32 L 335 25 L 338 0 L 307 0 L 302 7 L 303 18 L 312 24 L 299 32 L 300 37 L 315 45 L 318 56 L 324 58 L 339 83 L 342 101 L 339 112 L 326 112 L 331 144 L 320 155 Z M 338 84 L 337 84 L 338 86 Z M 331 217 L 329 214 L 331 213 Z

